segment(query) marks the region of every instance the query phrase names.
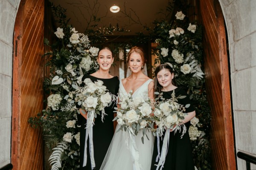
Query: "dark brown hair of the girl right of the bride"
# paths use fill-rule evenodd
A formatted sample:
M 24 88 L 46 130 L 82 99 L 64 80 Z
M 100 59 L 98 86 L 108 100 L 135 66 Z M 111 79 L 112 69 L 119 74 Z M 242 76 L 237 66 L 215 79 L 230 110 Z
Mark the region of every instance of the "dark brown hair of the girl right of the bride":
M 168 71 L 170 71 L 171 74 L 174 74 L 174 71 L 172 69 L 172 67 L 169 65 L 169 64 L 160 64 L 157 66 L 157 68 L 155 69 L 154 71 L 154 89 L 155 91 L 161 93 L 161 89 L 163 88 L 158 80 L 157 80 L 157 74 L 159 73 L 159 71 L 163 70 L 163 69 L 167 69 Z M 172 79 L 172 84 L 173 85 L 176 85 L 176 82 L 175 82 L 175 77 L 173 77 Z

